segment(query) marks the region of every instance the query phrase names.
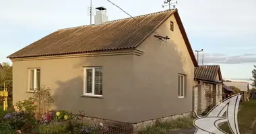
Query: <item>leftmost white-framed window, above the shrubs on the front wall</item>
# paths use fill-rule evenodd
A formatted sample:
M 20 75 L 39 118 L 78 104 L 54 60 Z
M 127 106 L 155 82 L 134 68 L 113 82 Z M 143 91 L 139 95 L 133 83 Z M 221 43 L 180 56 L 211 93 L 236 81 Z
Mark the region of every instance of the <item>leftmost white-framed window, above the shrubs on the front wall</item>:
M 34 91 L 40 88 L 40 69 L 28 69 L 28 91 Z

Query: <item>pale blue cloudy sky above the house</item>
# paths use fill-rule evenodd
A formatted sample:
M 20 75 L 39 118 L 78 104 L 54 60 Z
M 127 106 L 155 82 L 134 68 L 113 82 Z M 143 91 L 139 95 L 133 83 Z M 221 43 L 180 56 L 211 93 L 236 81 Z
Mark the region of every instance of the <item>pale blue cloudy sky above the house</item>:
M 162 0 L 111 0 L 133 16 L 163 11 Z M 57 29 L 90 24 L 90 0 L 0 1 L 0 62 Z M 108 19 L 129 17 L 106 0 Z M 178 0 L 177 8 L 193 50 L 204 64 L 219 64 L 223 78 L 249 80 L 256 62 L 255 0 Z M 197 54 L 195 53 L 195 56 Z M 202 53 L 199 53 L 199 64 Z

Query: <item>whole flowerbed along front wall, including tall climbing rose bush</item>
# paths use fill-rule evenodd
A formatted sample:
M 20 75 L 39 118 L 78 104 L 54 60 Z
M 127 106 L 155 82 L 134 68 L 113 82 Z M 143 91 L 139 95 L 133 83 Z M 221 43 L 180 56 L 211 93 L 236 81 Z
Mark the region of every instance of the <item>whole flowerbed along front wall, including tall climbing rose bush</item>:
M 104 134 L 117 127 L 103 124 L 84 124 L 84 114 L 70 111 L 49 112 L 54 100 L 51 89 L 41 86 L 28 100 L 20 100 L 17 109 L 0 109 L 0 134 Z

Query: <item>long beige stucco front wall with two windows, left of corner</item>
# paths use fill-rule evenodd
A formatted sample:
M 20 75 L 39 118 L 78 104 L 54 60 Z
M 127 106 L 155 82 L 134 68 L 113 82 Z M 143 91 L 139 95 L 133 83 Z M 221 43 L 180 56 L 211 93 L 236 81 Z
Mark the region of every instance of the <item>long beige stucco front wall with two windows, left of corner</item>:
M 103 97 L 83 95 L 83 66 L 102 66 Z M 28 68 L 40 68 L 41 84 L 53 90 L 53 109 L 87 116 L 133 121 L 133 56 L 100 56 L 13 62 L 13 103 L 28 98 Z

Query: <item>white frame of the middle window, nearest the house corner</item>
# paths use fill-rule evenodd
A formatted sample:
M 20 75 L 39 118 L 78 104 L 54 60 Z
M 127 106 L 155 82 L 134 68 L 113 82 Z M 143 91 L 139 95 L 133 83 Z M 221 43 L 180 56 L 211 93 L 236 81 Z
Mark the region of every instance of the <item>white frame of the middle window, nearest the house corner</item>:
M 84 95 L 85 96 L 103 96 L 103 95 L 98 95 L 94 93 L 94 83 L 95 83 L 95 68 L 98 67 L 84 67 Z M 102 68 L 102 66 L 100 66 Z M 92 69 L 92 93 L 87 93 L 86 92 L 86 70 Z M 103 84 L 103 83 L 102 83 Z M 103 92 L 103 86 L 102 86 L 102 92 Z

